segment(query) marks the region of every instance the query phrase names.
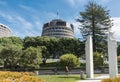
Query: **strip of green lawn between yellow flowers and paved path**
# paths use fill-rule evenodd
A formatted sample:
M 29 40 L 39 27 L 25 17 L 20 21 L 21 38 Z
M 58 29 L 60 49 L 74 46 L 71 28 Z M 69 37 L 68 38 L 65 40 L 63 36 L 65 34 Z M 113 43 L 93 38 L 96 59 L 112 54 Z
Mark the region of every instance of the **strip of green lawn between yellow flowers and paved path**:
M 80 75 L 39 75 L 46 82 L 76 82 L 80 80 Z

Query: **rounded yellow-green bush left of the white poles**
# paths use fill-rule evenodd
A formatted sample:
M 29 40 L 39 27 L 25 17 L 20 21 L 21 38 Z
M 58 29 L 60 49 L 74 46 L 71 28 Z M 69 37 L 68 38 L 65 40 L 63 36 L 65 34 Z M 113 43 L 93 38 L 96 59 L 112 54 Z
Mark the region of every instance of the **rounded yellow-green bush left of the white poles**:
M 60 65 L 62 67 L 77 67 L 80 66 L 79 59 L 73 54 L 64 54 L 60 57 Z

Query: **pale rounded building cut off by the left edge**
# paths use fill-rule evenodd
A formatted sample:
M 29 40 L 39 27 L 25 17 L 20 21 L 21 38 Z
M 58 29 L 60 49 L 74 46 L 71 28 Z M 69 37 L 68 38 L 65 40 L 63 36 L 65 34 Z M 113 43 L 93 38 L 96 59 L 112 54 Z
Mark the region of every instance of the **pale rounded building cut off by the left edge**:
M 10 28 L 4 24 L 0 24 L 0 37 L 10 37 L 11 35 Z

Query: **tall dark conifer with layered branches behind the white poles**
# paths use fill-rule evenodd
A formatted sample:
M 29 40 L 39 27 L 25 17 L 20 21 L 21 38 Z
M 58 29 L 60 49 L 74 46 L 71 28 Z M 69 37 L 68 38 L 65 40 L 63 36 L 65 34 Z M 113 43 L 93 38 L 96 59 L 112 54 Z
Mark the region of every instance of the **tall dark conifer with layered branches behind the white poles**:
M 83 37 L 86 38 L 87 35 L 91 34 L 93 50 L 99 51 L 99 42 L 106 41 L 106 32 L 112 25 L 109 10 L 91 1 L 86 5 L 85 11 L 80 12 L 77 22 L 82 24 L 80 30 Z

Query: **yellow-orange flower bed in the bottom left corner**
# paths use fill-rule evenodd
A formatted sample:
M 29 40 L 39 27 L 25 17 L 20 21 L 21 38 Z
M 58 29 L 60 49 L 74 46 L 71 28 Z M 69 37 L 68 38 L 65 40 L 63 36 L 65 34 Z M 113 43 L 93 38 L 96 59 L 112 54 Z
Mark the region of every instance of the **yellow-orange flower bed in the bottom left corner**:
M 29 72 L 0 71 L 0 82 L 45 82 Z

